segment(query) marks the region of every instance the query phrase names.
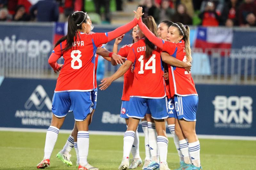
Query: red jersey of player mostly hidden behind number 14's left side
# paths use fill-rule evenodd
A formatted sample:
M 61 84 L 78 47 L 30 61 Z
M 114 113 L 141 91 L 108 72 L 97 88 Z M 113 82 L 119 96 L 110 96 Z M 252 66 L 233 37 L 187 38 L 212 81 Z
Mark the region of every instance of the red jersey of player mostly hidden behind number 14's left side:
M 120 50 L 118 51 L 118 55 L 121 55 L 122 57 L 127 57 L 131 46 L 132 44 L 124 45 L 123 47 L 121 47 Z M 133 78 L 134 78 L 134 74 L 132 73 L 131 67 L 130 67 L 129 70 L 127 70 L 126 73 L 124 73 L 124 88 L 123 88 L 122 100 L 125 100 L 125 101 L 130 100 Z

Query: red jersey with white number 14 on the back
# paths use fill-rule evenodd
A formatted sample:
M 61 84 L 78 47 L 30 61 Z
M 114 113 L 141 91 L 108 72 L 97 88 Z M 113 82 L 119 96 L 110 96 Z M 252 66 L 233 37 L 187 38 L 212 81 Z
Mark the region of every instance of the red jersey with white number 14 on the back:
M 155 48 L 149 59 L 145 58 L 145 40 L 132 44 L 127 60 L 134 63 L 134 79 L 130 97 L 161 99 L 166 96 L 164 84 L 164 66 L 160 49 Z

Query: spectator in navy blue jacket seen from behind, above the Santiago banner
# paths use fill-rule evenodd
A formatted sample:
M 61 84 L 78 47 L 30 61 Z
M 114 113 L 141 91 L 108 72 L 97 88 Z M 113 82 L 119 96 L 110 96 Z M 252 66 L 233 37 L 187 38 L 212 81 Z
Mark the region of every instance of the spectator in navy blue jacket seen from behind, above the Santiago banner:
M 41 0 L 31 6 L 30 14 L 40 22 L 57 22 L 59 19 L 59 6 L 55 0 Z

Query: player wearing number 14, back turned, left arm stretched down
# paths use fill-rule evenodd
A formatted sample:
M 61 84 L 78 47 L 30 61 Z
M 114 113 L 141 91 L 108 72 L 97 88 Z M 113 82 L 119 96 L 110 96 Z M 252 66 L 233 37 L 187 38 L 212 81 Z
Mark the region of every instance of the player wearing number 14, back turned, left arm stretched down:
M 153 17 L 149 16 L 144 22 L 156 35 L 156 23 Z M 138 31 L 140 35 L 140 29 Z M 134 142 L 134 133 L 138 127 L 140 119 L 143 119 L 148 110 L 156 123 L 157 146 L 160 156 L 160 169 L 169 170 L 166 157 L 168 139 L 165 133 L 165 121 L 168 117 L 166 110 L 166 94 L 163 78 L 163 66 L 161 62 L 160 50 L 155 48 L 147 38 L 133 43 L 127 60 L 110 78 L 104 78 L 100 85 L 101 90 L 105 90 L 112 81 L 121 77 L 134 63 L 134 80 L 129 102 L 129 124 L 124 134 L 124 157 L 119 166 L 119 170 L 127 169 L 129 166 L 129 154 Z

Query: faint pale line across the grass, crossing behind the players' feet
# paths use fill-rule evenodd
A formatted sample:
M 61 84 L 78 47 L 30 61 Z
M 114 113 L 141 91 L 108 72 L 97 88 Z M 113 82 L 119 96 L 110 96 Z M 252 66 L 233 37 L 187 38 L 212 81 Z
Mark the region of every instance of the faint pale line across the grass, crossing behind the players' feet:
M 3 149 L 21 149 L 21 150 L 44 150 L 44 148 L 29 148 L 29 147 L 11 147 L 11 146 L 0 146 L 0 149 L 3 151 Z M 57 148 L 55 148 L 57 149 Z M 99 150 L 99 149 L 89 149 L 91 152 L 116 152 L 116 153 L 123 153 L 123 151 L 118 151 L 118 150 Z M 140 151 L 140 153 L 145 153 L 144 151 Z M 177 155 L 177 153 L 174 152 L 168 152 L 168 155 Z M 237 158 L 256 158 L 256 156 L 250 156 L 250 155 L 227 155 L 227 154 L 203 154 L 200 153 L 200 155 L 204 156 L 216 156 L 216 157 L 237 157 Z

